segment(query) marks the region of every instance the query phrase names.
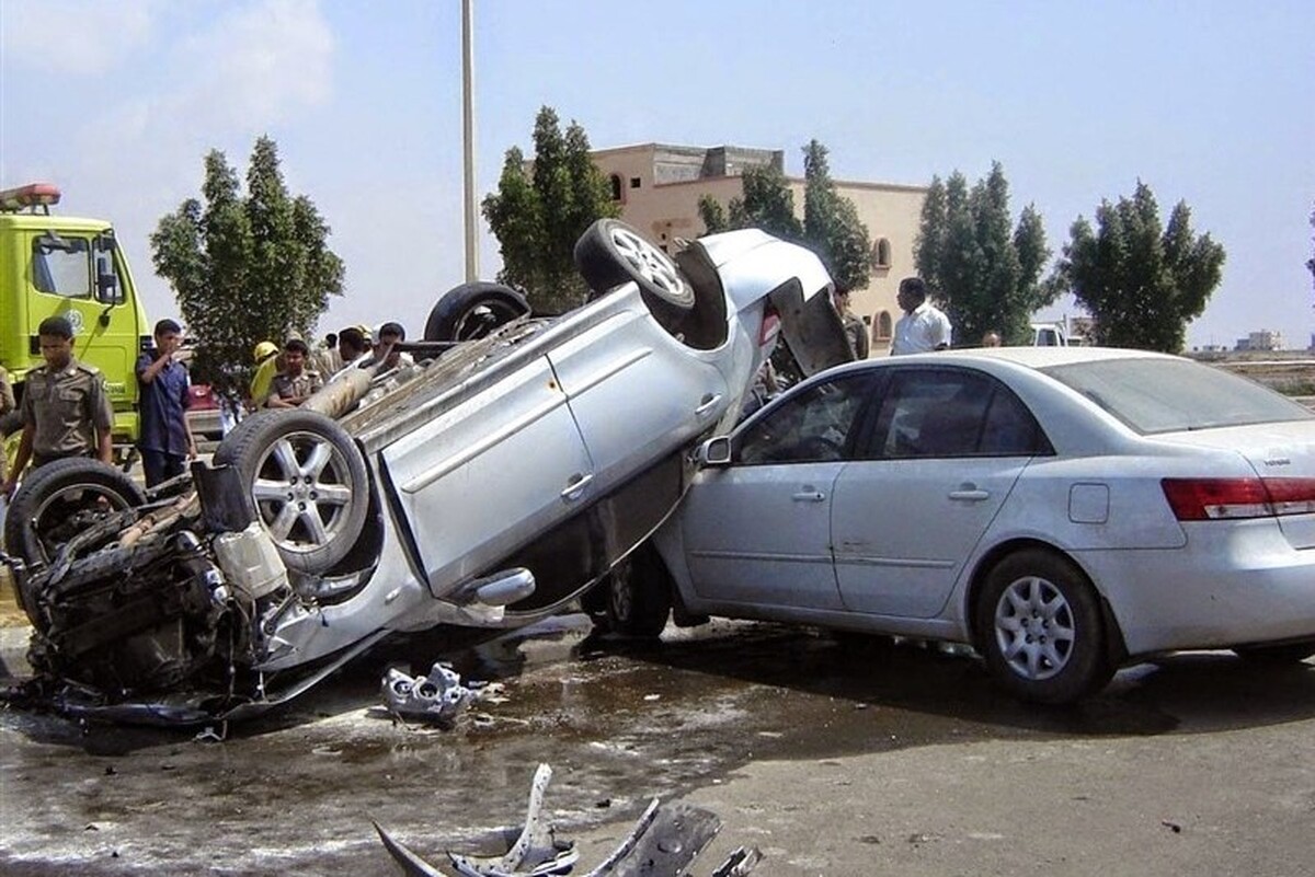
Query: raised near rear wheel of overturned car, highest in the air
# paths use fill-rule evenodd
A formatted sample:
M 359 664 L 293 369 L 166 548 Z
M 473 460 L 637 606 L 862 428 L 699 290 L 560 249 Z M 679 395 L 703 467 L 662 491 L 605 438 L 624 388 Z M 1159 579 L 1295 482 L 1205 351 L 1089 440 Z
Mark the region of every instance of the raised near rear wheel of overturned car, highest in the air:
M 672 257 L 618 219 L 598 219 L 580 235 L 575 264 L 592 298 L 634 281 L 664 326 L 679 323 L 694 307 L 694 288 Z

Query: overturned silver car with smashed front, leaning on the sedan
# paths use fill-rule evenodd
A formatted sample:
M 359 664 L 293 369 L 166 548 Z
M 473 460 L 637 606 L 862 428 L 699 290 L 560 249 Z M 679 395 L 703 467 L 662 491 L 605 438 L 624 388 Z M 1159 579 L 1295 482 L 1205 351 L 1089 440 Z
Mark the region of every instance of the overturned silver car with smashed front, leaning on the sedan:
M 239 718 L 393 631 L 518 626 L 605 576 L 680 502 L 778 336 L 849 358 L 810 251 L 746 230 L 675 261 L 617 221 L 576 247 L 562 316 L 493 284 L 434 307 L 418 364 L 339 375 L 242 421 L 149 494 L 91 461 L 36 470 L 5 550 L 58 708 Z

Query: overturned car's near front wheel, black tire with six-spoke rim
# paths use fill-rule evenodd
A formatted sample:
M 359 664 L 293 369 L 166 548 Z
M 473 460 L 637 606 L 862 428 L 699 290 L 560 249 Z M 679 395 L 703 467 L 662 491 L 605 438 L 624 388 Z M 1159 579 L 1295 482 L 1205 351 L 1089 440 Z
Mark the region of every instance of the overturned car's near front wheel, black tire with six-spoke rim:
M 288 568 L 327 572 L 366 526 L 366 461 L 351 436 L 322 414 L 249 417 L 220 442 L 214 462 L 238 470 L 247 512 L 274 537 Z

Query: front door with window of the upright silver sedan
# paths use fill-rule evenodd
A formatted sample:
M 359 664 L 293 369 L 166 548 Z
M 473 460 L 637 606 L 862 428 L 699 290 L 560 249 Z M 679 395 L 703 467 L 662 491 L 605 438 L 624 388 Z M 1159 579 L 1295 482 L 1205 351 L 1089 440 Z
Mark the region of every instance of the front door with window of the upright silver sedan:
M 701 597 L 840 608 L 831 495 L 872 382 L 857 373 L 801 386 L 736 433 L 731 466 L 696 477 L 680 521 Z

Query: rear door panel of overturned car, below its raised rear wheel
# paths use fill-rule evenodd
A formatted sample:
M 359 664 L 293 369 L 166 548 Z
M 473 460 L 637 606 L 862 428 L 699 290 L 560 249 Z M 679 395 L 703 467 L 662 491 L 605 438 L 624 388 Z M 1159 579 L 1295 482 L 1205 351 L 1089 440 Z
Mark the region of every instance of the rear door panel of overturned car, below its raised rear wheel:
M 618 310 L 548 358 L 593 461 L 597 495 L 697 438 L 730 403 L 713 352 L 685 347 L 634 310 Z

